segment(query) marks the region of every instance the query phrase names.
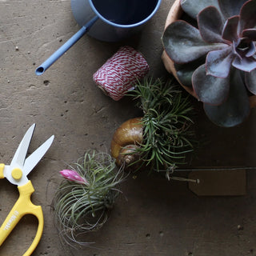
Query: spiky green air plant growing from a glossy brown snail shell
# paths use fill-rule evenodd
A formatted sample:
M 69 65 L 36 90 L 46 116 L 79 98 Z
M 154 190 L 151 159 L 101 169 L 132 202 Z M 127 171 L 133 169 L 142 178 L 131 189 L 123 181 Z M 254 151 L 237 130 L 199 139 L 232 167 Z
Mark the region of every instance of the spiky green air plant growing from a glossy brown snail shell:
M 152 78 L 138 82 L 130 96 L 139 100 L 143 114 L 124 122 L 114 132 L 111 154 L 119 166 L 173 172 L 193 150 L 193 107 L 173 81 Z

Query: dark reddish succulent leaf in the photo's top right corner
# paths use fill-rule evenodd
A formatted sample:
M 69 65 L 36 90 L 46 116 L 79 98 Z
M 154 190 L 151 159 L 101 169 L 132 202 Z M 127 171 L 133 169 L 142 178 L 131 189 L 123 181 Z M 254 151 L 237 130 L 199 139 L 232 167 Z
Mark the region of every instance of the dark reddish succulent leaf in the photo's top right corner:
M 239 34 L 243 30 L 255 28 L 256 26 L 256 1 L 247 1 L 240 12 Z

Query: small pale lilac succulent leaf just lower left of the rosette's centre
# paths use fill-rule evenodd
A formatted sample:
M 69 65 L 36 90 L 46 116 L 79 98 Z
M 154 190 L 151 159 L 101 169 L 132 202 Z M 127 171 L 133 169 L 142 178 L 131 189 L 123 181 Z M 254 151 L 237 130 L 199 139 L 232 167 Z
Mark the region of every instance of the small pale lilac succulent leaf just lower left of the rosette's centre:
M 212 50 L 206 57 L 206 74 L 217 78 L 227 78 L 234 60 L 232 46 L 222 50 Z

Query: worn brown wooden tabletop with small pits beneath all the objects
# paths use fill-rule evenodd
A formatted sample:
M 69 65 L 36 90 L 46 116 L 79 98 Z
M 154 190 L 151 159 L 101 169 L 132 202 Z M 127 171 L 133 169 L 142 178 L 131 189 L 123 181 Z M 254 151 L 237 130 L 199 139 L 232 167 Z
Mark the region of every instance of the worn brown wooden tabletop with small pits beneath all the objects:
M 102 94 L 92 75 L 119 46 L 142 52 L 154 77 L 169 77 L 161 60 L 161 36 L 174 1 L 162 0 L 154 18 L 136 38 L 99 42 L 84 36 L 40 77 L 34 70 L 79 30 L 70 0 L 0 0 L 0 156 L 10 163 L 22 135 L 37 127 L 31 153 L 55 135 L 45 158 L 30 174 L 45 226 L 34 256 L 246 256 L 256 255 L 256 174 L 248 170 L 246 195 L 200 197 L 186 182 L 142 172 L 122 183 L 123 194 L 95 242 L 84 250 L 62 245 L 54 227 L 51 203 L 62 178 L 58 171 L 89 149 L 110 151 L 114 130 L 140 111 L 125 97 L 118 102 Z M 256 166 L 255 111 L 241 126 L 224 129 L 197 109 L 195 129 L 202 144 L 186 168 Z M 185 175 L 180 173 L 177 175 Z M 0 219 L 18 198 L 16 187 L 0 181 Z M 30 246 L 37 220 L 26 216 L 0 247 L 2 256 L 19 256 Z

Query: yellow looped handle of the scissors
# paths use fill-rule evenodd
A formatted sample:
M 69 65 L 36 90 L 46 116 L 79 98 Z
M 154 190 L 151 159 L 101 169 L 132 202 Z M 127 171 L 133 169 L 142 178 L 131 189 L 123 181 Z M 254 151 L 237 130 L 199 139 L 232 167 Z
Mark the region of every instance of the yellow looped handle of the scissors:
M 1 169 L 1 166 L 0 166 Z M 1 170 L 0 170 L 1 174 Z M 10 210 L 10 214 L 8 214 L 5 222 L 2 223 L 0 227 L 0 246 L 6 240 L 8 235 L 14 229 L 14 226 L 18 224 L 20 219 L 26 214 L 33 214 L 35 217 L 38 218 L 38 230 L 34 237 L 34 240 L 26 253 L 23 256 L 30 256 L 36 246 L 38 246 L 38 242 L 42 237 L 42 230 L 43 230 L 43 214 L 42 214 L 42 207 L 35 206 L 31 200 L 31 194 L 34 192 L 34 187 L 32 183 L 29 181 L 23 186 L 18 186 L 19 191 L 19 198 L 17 202 L 14 204 L 12 210 Z

